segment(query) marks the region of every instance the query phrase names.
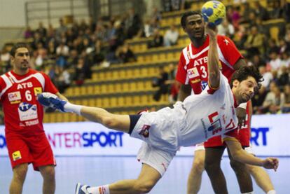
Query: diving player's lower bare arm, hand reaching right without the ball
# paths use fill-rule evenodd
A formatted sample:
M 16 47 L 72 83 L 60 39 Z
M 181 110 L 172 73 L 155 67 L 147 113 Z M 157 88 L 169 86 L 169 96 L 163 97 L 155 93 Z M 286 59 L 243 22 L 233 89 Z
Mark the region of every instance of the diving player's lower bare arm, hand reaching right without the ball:
M 244 151 L 240 142 L 236 139 L 230 138 L 225 141 L 230 150 L 230 154 L 235 160 L 248 165 L 256 165 L 267 169 L 274 169 L 275 171 L 277 170 L 279 165 L 279 160 L 277 158 L 266 158 L 265 160 L 262 160 L 261 158 L 257 158 L 254 155 L 247 153 L 247 151 Z

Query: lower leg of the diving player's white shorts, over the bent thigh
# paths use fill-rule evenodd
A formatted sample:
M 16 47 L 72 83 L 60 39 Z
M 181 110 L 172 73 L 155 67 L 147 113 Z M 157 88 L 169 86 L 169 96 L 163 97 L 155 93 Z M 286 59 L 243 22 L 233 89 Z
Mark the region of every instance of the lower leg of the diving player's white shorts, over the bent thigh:
M 137 154 L 137 160 L 156 169 L 163 176 L 170 165 L 174 154 L 155 148 L 146 142 L 142 142 Z

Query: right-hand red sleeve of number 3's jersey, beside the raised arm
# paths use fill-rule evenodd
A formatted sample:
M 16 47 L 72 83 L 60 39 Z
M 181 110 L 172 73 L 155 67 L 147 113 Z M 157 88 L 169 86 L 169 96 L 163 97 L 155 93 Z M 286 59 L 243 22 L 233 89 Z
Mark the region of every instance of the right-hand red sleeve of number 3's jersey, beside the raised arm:
M 225 60 L 233 66 L 237 60 L 243 58 L 235 43 L 231 39 L 226 36 L 219 36 L 219 48 L 221 48 L 221 53 L 223 53 L 223 57 Z

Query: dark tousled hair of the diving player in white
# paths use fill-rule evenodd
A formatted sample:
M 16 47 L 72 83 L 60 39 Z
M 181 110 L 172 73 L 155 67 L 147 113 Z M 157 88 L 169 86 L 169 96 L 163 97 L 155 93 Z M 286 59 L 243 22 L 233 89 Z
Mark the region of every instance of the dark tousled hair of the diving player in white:
M 232 78 L 230 79 L 230 88 L 233 88 L 233 81 L 244 81 L 249 76 L 253 77 L 258 83 L 258 89 L 261 88 L 261 82 L 264 80 L 258 69 L 254 65 L 244 66 L 235 71 Z M 257 91 L 255 91 L 257 92 Z

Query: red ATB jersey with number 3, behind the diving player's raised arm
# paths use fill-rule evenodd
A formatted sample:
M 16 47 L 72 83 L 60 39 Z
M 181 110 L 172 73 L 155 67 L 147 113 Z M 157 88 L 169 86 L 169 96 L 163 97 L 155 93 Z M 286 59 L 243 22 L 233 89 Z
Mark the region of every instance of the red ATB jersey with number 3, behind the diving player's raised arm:
M 235 47 L 233 41 L 226 36 L 217 36 L 219 60 L 221 71 L 230 81 L 235 69 L 233 65 L 242 58 L 242 55 Z M 199 48 L 195 48 L 190 43 L 181 52 L 179 67 L 177 70 L 177 81 L 183 84 L 191 84 L 193 93 L 200 94 L 207 86 L 207 52 L 209 50 L 209 36 L 205 43 Z

